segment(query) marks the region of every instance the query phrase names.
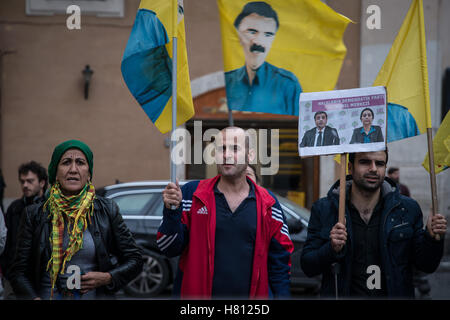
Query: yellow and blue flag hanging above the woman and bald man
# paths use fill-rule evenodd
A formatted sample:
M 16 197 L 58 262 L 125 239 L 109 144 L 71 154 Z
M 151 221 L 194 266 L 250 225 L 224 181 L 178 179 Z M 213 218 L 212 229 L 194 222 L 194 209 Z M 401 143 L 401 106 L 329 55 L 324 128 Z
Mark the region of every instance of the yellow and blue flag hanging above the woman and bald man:
M 181 0 L 142 0 L 122 58 L 122 76 L 162 133 L 172 129 L 172 38 L 177 37 L 177 125 L 194 115 Z

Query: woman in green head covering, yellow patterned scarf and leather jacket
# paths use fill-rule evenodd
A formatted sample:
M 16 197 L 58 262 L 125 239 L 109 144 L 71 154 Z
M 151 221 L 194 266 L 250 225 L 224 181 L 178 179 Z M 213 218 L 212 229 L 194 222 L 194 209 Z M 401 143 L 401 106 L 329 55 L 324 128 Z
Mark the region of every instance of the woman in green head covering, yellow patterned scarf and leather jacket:
M 48 198 L 27 207 L 21 222 L 11 275 L 18 297 L 111 298 L 141 271 L 141 251 L 117 205 L 95 194 L 93 165 L 79 140 L 53 151 Z

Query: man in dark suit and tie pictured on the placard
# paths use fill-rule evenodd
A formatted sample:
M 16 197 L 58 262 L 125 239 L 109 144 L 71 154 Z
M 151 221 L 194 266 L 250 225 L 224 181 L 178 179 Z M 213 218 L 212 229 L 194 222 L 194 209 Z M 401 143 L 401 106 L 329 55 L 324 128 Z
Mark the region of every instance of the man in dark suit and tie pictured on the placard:
M 321 147 L 339 144 L 339 134 L 335 128 L 327 126 L 328 115 L 325 111 L 314 114 L 316 127 L 305 132 L 300 147 Z

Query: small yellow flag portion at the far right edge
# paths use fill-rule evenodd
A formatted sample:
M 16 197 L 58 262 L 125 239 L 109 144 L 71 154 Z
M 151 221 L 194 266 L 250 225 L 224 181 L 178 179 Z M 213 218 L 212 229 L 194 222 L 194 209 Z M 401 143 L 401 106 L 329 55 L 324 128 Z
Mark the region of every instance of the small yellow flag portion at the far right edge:
M 442 121 L 436 136 L 433 138 L 434 170 L 438 174 L 450 167 L 450 112 Z M 427 153 L 422 166 L 430 172 L 429 154 Z

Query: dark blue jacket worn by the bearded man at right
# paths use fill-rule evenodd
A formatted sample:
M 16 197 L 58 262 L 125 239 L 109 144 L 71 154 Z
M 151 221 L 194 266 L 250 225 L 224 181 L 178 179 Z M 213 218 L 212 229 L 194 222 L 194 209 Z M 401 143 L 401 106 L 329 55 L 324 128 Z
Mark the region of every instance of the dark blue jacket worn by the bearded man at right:
M 347 194 L 351 186 L 347 177 Z M 422 211 L 418 203 L 400 195 L 395 184 L 385 178 L 381 187 L 384 200 L 380 226 L 381 270 L 386 277 L 388 297 L 414 298 L 413 271 L 417 269 L 431 273 L 439 266 L 444 241 L 431 238 L 423 228 Z M 309 276 L 322 274 L 322 296 L 335 295 L 335 281 L 331 265 L 339 263 L 339 296 L 350 296 L 352 264 L 352 224 L 349 210 L 345 208 L 347 243 L 336 254 L 330 241 L 330 231 L 338 221 L 339 181 L 328 192 L 327 197 L 316 201 L 311 209 L 308 236 L 301 256 L 301 266 Z

